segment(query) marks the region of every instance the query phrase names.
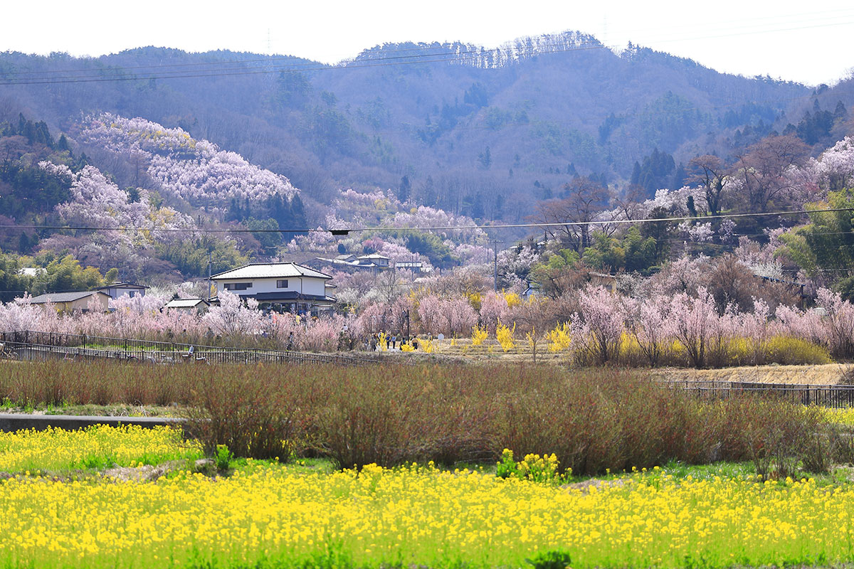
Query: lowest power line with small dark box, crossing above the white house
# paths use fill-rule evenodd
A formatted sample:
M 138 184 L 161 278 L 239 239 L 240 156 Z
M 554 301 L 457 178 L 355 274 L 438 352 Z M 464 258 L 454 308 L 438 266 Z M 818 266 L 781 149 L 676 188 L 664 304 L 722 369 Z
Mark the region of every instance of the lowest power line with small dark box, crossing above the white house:
M 685 216 L 679 218 L 641 218 L 641 219 L 594 219 L 591 221 L 563 221 L 542 222 L 528 224 L 475 224 L 475 225 L 437 225 L 428 227 L 395 227 L 391 225 L 377 227 L 350 227 L 350 228 L 302 228 L 302 229 L 213 229 L 213 228 L 167 228 L 167 227 L 95 227 L 86 225 L 15 225 L 0 224 L 0 229 L 32 229 L 32 230 L 73 230 L 73 231 L 156 231 L 159 233 L 330 233 L 342 236 L 349 233 L 364 233 L 368 231 L 462 231 L 465 229 L 524 229 L 549 227 L 580 227 L 591 225 L 622 225 L 622 224 L 661 224 L 675 221 L 706 221 L 711 219 L 738 219 L 738 218 L 768 218 L 786 215 L 804 215 L 823 212 L 854 212 L 854 207 L 834 207 L 827 209 L 796 210 L 791 212 L 757 212 L 757 213 L 722 213 L 720 215 L 708 215 L 704 217 Z

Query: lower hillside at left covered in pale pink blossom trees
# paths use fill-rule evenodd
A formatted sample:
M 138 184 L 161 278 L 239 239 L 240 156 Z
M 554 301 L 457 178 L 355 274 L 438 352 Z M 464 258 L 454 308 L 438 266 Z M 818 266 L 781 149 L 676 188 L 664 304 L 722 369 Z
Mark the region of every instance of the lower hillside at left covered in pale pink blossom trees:
M 256 230 L 307 225 L 287 178 L 180 129 L 101 113 L 77 131 L 79 154 L 44 121 L 22 114 L 0 121 L 0 291 L 54 292 L 81 282 L 73 278 L 80 264 L 93 267 L 81 273 L 86 282 L 96 269 L 180 281 L 274 253 L 293 235 Z M 69 229 L 50 229 L 57 225 Z M 253 232 L 232 237 L 202 228 Z

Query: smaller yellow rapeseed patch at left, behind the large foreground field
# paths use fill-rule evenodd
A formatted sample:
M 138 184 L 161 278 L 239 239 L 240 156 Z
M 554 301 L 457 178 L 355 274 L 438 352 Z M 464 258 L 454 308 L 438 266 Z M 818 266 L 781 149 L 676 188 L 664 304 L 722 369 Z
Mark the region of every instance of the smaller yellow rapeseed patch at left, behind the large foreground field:
M 128 467 L 201 456 L 197 443 L 182 442 L 181 433 L 168 427 L 0 432 L 0 472 Z

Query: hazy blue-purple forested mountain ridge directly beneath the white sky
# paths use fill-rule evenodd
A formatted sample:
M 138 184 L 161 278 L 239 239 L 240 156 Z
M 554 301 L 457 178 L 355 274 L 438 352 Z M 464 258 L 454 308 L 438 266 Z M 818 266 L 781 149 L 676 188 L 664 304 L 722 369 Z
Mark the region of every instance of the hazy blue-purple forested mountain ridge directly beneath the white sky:
M 314 218 L 310 202 L 348 187 L 508 220 L 575 174 L 651 196 L 681 183 L 694 156 L 729 159 L 773 131 L 824 148 L 848 107 L 847 84 L 737 77 L 577 32 L 497 50 L 383 45 L 334 67 L 161 48 L 0 54 L 0 121 L 38 117 L 77 144 L 85 117 L 102 112 L 180 127 L 288 177 Z

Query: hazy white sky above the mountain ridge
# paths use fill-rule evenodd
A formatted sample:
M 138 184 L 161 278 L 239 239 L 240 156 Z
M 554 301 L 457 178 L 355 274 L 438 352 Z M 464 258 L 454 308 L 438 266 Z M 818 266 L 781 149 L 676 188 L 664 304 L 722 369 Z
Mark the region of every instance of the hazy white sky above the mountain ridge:
M 850 0 L 752 2 L 196 2 L 82 0 L 3 7 L 0 51 L 102 55 L 145 45 L 233 49 L 332 63 L 377 44 L 460 40 L 496 47 L 514 38 L 579 30 L 727 73 L 834 83 L 854 67 Z

